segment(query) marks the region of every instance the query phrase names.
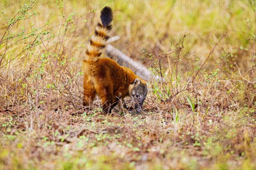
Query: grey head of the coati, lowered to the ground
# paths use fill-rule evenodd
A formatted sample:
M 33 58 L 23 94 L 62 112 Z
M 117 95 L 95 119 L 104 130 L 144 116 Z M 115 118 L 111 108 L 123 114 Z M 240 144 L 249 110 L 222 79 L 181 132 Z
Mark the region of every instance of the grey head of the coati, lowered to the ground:
M 148 88 L 146 83 L 140 79 L 135 79 L 129 87 L 129 94 L 137 112 L 142 111 L 143 102 L 147 96 Z

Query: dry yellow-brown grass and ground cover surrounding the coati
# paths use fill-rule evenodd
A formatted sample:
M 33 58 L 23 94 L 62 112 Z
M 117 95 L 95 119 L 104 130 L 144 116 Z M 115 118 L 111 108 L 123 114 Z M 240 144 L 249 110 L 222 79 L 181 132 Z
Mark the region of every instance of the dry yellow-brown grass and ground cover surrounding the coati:
M 147 82 L 144 113 L 103 115 L 99 100 L 81 106 L 81 58 L 99 9 L 44 1 L 14 22 L 18 10 L 1 1 L 1 170 L 256 169 L 255 2 L 141 2 L 114 10 L 112 34 L 128 42 L 112 44 L 165 82 Z M 192 43 L 198 35 L 215 38 Z

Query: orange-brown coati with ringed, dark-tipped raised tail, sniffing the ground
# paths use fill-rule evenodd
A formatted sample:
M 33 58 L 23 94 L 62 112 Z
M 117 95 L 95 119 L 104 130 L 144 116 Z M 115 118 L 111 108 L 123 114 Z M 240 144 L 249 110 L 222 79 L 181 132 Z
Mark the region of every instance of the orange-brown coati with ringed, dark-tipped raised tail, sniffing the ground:
M 130 96 L 136 111 L 141 112 L 148 92 L 145 81 L 136 76 L 131 69 L 118 65 L 114 60 L 99 58 L 106 41 L 110 38 L 108 33 L 112 29 L 112 9 L 104 7 L 100 19 L 101 22 L 96 26 L 83 59 L 83 105 L 89 106 L 98 95 L 103 112 L 110 113 L 112 108 L 120 102 L 119 99 Z M 119 103 L 119 109 L 120 107 Z

